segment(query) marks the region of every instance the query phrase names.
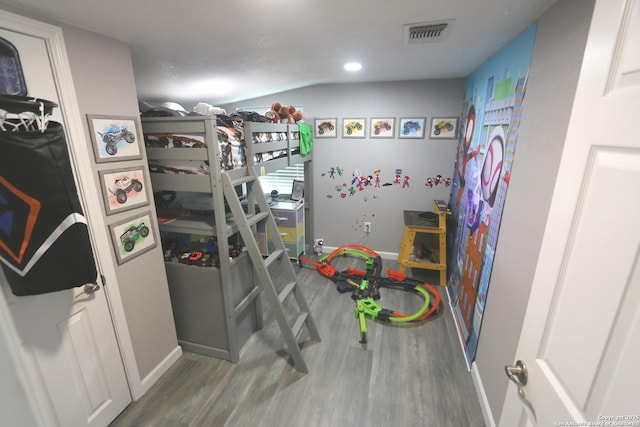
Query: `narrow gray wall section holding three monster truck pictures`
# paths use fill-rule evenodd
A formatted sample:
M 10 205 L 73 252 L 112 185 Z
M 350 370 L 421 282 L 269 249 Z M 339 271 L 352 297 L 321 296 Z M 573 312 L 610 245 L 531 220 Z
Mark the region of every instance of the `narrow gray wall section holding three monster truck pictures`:
M 129 46 L 76 27 L 60 26 L 63 29 L 82 115 L 138 116 Z M 86 120 L 85 133 L 89 144 L 91 140 Z M 91 148 L 89 151 L 93 152 Z M 139 165 L 146 165 L 146 159 L 117 164 L 101 163 L 95 168 L 113 169 Z M 100 191 L 97 172 L 93 179 L 96 191 Z M 155 216 L 152 202 L 145 208 L 111 215 L 107 222 L 118 222 L 136 213 L 143 214 L 149 209 L 152 210 L 152 216 Z M 99 251 L 100 256 L 114 256 L 110 247 L 99 248 Z M 136 363 L 143 379 L 177 346 L 162 248 L 158 245 L 116 270 L 116 285 L 120 290 Z

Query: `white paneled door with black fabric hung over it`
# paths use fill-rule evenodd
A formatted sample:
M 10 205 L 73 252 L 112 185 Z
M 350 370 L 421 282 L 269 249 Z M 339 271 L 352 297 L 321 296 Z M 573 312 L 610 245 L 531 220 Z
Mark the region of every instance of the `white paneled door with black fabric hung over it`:
M 42 36 L 47 31 L 41 31 L 38 23 L 21 22 L 2 14 L 0 37 L 20 54 L 29 96 L 59 104 L 50 60 L 55 41 Z M 28 34 L 32 28 L 38 28 L 38 36 Z M 61 72 L 57 70 L 57 75 Z M 56 121 L 62 121 L 62 108 L 57 109 Z M 73 147 L 70 151 L 73 155 Z M 29 167 L 28 160 L 24 166 Z M 31 382 L 44 390 L 38 402 L 46 406 L 40 408 L 43 419 L 61 427 L 108 425 L 131 395 L 104 290 L 87 294 L 75 288 L 16 297 L 2 274 L 0 282 L 0 297 L 11 312 Z

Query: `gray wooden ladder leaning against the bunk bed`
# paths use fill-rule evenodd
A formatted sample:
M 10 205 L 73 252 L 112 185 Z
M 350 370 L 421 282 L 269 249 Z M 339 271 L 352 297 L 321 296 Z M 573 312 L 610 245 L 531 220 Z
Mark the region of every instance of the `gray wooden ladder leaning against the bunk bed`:
M 294 367 L 299 372 L 307 373 L 307 365 L 300 352 L 298 336 L 306 325 L 309 336 L 314 341 L 320 341 L 320 334 L 309 312 L 307 302 L 302 295 L 296 272 L 289 260 L 278 226 L 271 214 L 267 199 L 262 192 L 260 181 L 252 167 L 248 167 L 247 175 L 233 178 L 229 173 L 222 173 L 222 188 L 227 205 L 233 219 L 244 240 L 251 263 L 258 277 L 259 286 L 267 297 L 275 318 L 293 359 Z M 236 189 L 246 184 L 247 212 Z M 256 205 L 258 211 L 256 212 Z M 266 231 L 270 236 L 275 250 L 263 258 L 257 241 L 256 225 L 266 221 Z M 275 274 L 277 272 L 278 274 Z M 297 303 L 297 312 L 291 313 L 292 304 L 287 304 L 288 312 L 283 303 L 293 294 Z M 293 320 L 292 323 L 291 320 Z

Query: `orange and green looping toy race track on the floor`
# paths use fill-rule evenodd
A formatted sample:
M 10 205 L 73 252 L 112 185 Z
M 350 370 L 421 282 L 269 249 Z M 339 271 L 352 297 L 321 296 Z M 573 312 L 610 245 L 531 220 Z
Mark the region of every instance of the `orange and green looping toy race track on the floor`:
M 337 271 L 331 261 L 337 256 L 351 256 L 365 262 L 366 271 L 352 267 L 344 271 Z M 336 290 L 341 294 L 351 293 L 351 299 L 356 302 L 355 316 L 360 323 L 360 344 L 367 344 L 366 318 L 381 322 L 418 322 L 440 312 L 440 293 L 431 284 L 421 282 L 390 268 L 387 277 L 381 275 L 382 259 L 375 251 L 361 245 L 345 245 L 337 248 L 328 255 L 314 261 L 300 257 L 300 263 L 314 265 L 322 276 L 336 284 Z M 376 301 L 380 299 L 380 288 L 397 289 L 413 292 L 420 296 L 424 303 L 418 311 L 411 314 L 383 308 Z

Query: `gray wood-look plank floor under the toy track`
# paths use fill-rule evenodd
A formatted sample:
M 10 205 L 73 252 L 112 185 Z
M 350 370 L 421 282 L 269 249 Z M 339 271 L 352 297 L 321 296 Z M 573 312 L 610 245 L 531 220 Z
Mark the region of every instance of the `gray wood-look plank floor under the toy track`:
M 394 261 L 384 263 L 397 269 Z M 338 270 L 361 264 L 353 258 L 333 263 Z M 424 280 L 422 271 L 413 274 Z M 308 374 L 290 364 L 265 309 L 265 327 L 245 344 L 238 364 L 184 353 L 111 426 L 484 426 L 444 289 L 443 312 L 421 324 L 368 320 L 363 349 L 350 295 L 315 269 L 302 268 L 299 277 L 322 337 L 303 345 Z M 436 276 L 430 282 L 437 283 Z M 421 303 L 407 292 L 381 294 L 385 308 L 411 312 Z

